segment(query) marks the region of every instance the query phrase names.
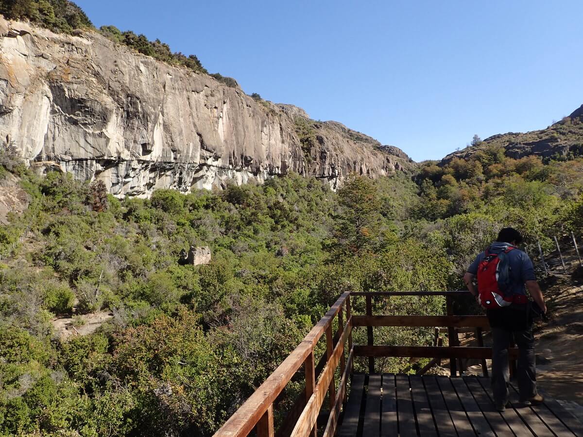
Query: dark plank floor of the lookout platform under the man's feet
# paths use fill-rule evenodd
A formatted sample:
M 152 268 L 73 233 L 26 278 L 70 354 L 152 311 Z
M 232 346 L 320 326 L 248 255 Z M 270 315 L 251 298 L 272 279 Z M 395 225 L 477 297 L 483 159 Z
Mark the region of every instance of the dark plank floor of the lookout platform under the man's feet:
M 552 399 L 498 413 L 488 378 L 354 373 L 339 437 L 557 436 L 583 437 L 583 424 Z

